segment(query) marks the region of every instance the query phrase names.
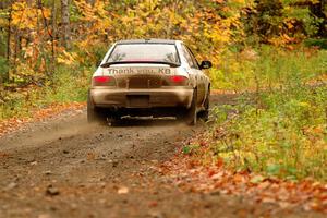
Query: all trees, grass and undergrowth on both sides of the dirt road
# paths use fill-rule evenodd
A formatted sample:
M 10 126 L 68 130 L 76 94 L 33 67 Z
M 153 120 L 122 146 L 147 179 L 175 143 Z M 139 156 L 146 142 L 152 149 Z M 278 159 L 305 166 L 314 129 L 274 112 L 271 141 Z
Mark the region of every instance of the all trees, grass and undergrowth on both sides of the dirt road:
M 184 40 L 213 61 L 213 88 L 255 95 L 214 109 L 227 134 L 210 158 L 327 180 L 327 0 L 1 0 L 0 121 L 85 101 L 98 61 L 129 38 Z

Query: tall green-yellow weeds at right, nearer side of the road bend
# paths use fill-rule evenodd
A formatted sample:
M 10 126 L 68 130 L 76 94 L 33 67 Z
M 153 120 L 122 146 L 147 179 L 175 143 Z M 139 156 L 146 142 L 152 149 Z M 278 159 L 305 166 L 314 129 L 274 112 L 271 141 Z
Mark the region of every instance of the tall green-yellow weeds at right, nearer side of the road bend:
M 326 99 L 326 86 L 265 93 L 256 105 L 237 107 L 211 149 L 237 169 L 327 181 Z

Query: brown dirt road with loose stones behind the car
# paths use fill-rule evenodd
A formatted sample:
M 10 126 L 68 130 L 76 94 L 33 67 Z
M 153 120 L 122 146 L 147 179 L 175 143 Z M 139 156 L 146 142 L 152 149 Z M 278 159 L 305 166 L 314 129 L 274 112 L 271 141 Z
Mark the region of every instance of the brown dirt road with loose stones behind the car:
M 181 192 L 155 170 L 204 130 L 174 121 L 88 125 L 85 111 L 29 124 L 0 138 L 0 217 L 319 217 Z

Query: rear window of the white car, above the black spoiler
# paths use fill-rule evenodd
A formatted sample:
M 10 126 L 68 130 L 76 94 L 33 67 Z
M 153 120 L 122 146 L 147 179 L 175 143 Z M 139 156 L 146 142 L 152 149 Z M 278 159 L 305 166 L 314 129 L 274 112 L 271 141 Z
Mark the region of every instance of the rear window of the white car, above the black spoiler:
M 128 61 L 180 63 L 175 46 L 166 44 L 117 45 L 107 62 Z

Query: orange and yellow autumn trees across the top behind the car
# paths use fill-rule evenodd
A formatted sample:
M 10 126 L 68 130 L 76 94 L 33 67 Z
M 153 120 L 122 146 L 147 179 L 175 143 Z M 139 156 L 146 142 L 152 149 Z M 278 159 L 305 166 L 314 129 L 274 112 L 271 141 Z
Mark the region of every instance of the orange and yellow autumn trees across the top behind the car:
M 0 9 L 2 88 L 45 84 L 61 64 L 89 68 L 125 38 L 182 39 L 219 65 L 231 48 L 326 36 L 318 0 L 7 0 Z

